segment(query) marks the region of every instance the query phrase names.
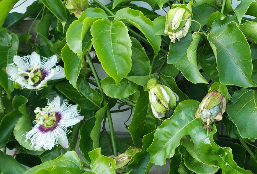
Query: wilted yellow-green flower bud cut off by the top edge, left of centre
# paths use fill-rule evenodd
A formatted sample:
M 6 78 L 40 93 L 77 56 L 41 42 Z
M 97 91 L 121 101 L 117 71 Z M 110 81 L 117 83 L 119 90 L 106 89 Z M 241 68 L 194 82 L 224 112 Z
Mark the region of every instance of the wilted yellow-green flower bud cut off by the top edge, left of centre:
M 67 0 L 65 7 L 70 13 L 73 13 L 75 17 L 79 18 L 81 13 L 88 8 L 87 0 Z

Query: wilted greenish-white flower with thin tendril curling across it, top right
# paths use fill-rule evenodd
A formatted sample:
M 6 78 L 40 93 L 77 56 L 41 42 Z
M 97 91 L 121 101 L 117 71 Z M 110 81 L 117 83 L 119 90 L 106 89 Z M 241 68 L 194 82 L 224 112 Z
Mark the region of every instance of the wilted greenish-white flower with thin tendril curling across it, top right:
M 180 41 L 180 38 L 187 35 L 193 16 L 191 6 L 192 2 L 172 4 L 171 9 L 167 12 L 164 33 L 170 36 L 172 43 L 175 43 L 176 39 Z

